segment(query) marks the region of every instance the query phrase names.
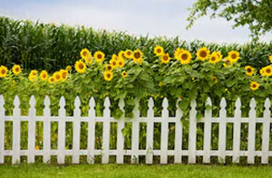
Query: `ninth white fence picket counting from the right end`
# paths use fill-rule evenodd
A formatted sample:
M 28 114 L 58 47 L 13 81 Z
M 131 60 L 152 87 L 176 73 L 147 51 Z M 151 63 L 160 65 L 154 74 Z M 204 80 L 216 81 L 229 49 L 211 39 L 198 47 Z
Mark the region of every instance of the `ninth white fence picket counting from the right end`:
M 153 130 L 154 130 L 154 101 L 153 98 L 150 98 L 148 103 L 149 109 L 147 114 L 147 136 L 146 136 L 146 158 L 145 163 L 146 164 L 152 164 L 153 163 Z

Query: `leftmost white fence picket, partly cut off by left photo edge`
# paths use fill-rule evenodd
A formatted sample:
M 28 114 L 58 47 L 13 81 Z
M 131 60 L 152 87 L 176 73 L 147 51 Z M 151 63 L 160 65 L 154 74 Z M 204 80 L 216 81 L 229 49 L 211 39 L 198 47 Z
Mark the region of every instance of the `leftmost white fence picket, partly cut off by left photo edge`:
M 0 164 L 4 164 L 4 148 L 5 148 L 5 100 L 0 95 Z

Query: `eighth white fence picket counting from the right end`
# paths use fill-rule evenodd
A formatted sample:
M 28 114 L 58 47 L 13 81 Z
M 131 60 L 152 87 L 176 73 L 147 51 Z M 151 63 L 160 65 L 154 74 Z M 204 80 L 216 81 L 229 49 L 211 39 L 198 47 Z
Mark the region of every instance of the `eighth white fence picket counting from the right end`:
M 162 113 L 161 113 L 161 136 L 160 136 L 160 164 L 167 164 L 168 161 L 168 132 L 169 132 L 169 111 L 168 111 L 168 100 L 163 98 L 162 101 Z

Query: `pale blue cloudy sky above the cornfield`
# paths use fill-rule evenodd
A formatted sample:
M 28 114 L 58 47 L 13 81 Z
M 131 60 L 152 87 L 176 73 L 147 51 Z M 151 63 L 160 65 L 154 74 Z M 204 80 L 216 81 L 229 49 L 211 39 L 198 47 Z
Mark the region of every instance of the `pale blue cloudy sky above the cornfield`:
M 134 35 L 180 36 L 182 40 L 248 42 L 247 27 L 203 17 L 186 30 L 187 10 L 196 0 L 0 0 L 0 14 L 44 23 L 85 25 L 94 29 L 126 31 Z M 261 37 L 272 40 L 272 34 Z

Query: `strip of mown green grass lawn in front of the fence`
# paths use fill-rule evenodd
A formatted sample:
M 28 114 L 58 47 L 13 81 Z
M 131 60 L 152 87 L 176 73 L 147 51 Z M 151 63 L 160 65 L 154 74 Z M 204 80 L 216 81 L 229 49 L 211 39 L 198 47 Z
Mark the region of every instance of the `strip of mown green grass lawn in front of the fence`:
M 272 177 L 272 167 L 238 165 L 0 165 L 0 177 Z

